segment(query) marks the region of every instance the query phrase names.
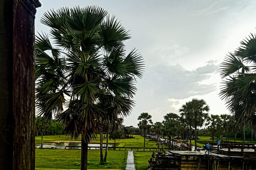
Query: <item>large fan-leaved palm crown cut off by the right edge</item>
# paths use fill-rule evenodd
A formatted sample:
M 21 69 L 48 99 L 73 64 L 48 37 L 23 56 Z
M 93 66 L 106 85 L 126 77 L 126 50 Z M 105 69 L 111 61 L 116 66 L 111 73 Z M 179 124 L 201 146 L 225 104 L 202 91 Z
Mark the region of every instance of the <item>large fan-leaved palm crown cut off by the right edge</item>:
M 234 114 L 237 122 L 254 119 L 256 107 L 255 35 L 240 42 L 241 46 L 229 53 L 221 63 L 220 75 L 225 80 L 221 88 L 221 99 Z

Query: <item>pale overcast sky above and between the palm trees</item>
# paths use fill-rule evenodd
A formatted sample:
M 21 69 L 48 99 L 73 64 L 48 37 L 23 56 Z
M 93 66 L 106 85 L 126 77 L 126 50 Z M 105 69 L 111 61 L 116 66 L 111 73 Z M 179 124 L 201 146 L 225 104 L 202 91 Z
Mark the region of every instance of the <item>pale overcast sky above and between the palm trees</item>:
M 219 97 L 220 63 L 240 41 L 256 33 L 254 0 L 40 0 L 35 18 L 36 32 L 49 32 L 40 23 L 50 9 L 97 5 L 130 30 L 127 51 L 142 54 L 145 71 L 137 79 L 136 106 L 124 119 L 137 126 L 142 112 L 161 122 L 167 113 L 193 98 L 204 99 L 209 114 L 229 114 Z

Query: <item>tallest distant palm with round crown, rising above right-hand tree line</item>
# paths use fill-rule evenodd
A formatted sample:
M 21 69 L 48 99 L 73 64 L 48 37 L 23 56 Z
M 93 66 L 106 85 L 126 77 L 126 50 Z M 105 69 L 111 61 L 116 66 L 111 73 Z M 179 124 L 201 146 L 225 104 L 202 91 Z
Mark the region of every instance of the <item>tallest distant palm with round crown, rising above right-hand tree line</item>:
M 195 150 L 197 149 L 196 138 L 197 138 L 197 127 L 202 127 L 204 125 L 205 119 L 208 117 L 208 112 L 210 110 L 206 102 L 201 99 L 192 99 L 190 102 L 186 103 L 186 106 L 182 107 L 180 110 L 184 115 L 191 121 L 191 126 L 195 127 Z M 206 112 L 206 113 L 205 113 Z

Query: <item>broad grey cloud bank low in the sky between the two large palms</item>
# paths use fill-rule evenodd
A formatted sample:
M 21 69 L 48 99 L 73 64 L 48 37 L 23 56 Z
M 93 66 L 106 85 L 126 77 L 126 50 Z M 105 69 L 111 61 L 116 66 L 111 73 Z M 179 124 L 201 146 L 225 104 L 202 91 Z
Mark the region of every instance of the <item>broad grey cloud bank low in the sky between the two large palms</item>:
M 209 80 L 219 71 L 219 66 L 215 62 L 210 60 L 205 66 L 191 71 L 180 64 L 159 64 L 148 67 L 138 86 L 143 87 L 140 90 L 145 96 L 165 101 L 172 98 L 184 99 L 194 95 L 205 95 L 217 90 L 217 83 Z M 204 81 L 207 83 L 202 83 Z

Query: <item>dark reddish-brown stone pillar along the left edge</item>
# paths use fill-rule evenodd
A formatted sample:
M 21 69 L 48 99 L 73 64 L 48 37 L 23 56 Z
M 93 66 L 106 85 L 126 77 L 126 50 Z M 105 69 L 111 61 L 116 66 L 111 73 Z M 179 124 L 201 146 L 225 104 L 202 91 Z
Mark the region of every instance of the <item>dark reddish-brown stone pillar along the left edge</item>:
M 0 169 L 35 169 L 38 0 L 0 0 Z

